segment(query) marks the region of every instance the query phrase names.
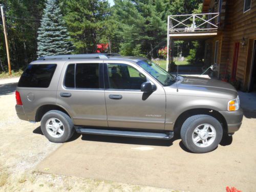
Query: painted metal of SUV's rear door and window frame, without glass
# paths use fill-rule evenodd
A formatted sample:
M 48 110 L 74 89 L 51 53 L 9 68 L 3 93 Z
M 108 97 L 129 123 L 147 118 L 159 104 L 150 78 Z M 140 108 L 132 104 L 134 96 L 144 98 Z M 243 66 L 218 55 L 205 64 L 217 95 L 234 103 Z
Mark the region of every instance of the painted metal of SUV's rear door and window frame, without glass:
M 108 126 L 106 120 L 104 89 L 72 89 L 65 88 L 64 77 L 69 64 L 102 63 L 99 60 L 68 61 L 61 72 L 58 84 L 56 103 L 69 111 L 76 125 Z M 100 75 L 100 74 L 99 74 Z M 71 93 L 71 97 L 61 97 L 60 93 Z

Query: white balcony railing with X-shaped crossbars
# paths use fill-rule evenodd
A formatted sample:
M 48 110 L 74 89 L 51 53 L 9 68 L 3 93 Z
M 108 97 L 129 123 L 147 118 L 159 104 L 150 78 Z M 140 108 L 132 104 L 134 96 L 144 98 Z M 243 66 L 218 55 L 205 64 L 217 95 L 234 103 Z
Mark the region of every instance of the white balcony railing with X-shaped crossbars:
M 169 15 L 169 33 L 207 32 L 218 30 L 219 13 Z

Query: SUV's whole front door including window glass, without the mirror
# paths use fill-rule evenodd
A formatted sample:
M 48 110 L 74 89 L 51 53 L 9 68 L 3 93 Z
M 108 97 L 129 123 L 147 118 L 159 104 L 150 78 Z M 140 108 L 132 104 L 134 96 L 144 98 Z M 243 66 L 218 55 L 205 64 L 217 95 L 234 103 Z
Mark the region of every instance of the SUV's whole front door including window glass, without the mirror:
M 150 81 L 153 93 L 140 91 Z M 150 75 L 133 63 L 104 63 L 106 111 L 110 127 L 164 130 L 165 92 Z

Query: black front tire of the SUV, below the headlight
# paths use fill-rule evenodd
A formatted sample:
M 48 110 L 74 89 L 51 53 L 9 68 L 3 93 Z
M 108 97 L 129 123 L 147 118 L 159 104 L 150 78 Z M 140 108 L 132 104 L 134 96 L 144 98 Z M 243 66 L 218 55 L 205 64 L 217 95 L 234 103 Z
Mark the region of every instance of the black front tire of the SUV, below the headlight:
M 216 131 L 216 137 L 215 137 L 215 140 L 214 139 L 211 140 L 211 142 L 212 141 L 213 142 L 211 144 L 209 144 L 209 146 L 201 147 L 198 145 L 203 145 L 203 140 L 202 141 L 200 140 L 198 143 L 196 143 L 198 145 L 196 145 L 193 142 L 192 137 L 197 137 L 197 136 L 199 138 L 201 137 L 201 136 L 197 135 L 197 133 L 194 133 L 194 131 L 199 125 L 204 124 L 204 123 L 207 123 L 207 124 L 211 125 L 212 127 L 214 127 L 214 129 Z M 200 126 L 200 127 L 202 127 L 202 126 Z M 184 123 L 181 127 L 180 134 L 181 134 L 182 143 L 186 146 L 186 148 L 189 151 L 191 151 L 193 153 L 207 153 L 207 152 L 211 152 L 212 150 L 215 150 L 215 148 L 219 145 L 219 143 L 221 142 L 221 139 L 222 139 L 223 129 L 222 129 L 221 123 L 216 118 L 214 118 L 212 116 L 194 115 L 194 116 L 187 118 L 184 121 Z M 196 135 L 194 135 L 194 134 L 196 134 Z M 202 137 L 204 137 L 204 136 L 202 136 Z

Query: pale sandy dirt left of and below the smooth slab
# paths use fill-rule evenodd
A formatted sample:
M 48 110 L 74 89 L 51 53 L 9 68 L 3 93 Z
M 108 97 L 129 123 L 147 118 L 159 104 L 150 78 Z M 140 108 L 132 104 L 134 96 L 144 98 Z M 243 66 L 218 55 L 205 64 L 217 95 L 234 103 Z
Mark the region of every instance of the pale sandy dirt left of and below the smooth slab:
M 18 78 L 0 79 L 0 191 L 174 191 L 37 172 L 38 163 L 61 144 L 51 143 L 41 135 L 39 123 L 18 119 L 14 94 L 17 81 Z M 44 171 L 47 170 L 46 167 Z

